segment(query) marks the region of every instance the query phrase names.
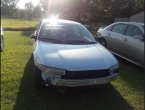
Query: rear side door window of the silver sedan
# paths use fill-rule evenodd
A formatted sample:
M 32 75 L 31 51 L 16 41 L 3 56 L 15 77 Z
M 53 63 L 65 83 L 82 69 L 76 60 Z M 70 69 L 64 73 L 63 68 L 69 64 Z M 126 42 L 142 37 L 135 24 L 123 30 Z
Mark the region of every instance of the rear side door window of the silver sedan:
M 126 28 L 127 28 L 127 25 L 125 24 L 116 24 L 114 25 L 112 32 L 124 34 Z

